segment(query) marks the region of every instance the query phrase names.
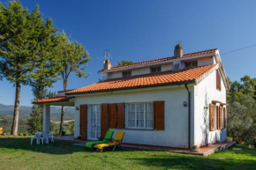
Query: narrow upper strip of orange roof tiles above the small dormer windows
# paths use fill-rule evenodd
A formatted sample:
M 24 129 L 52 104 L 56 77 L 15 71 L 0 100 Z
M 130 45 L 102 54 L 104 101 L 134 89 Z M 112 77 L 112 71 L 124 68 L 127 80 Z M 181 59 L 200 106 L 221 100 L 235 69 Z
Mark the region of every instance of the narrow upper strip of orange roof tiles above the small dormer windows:
M 208 50 L 205 50 L 205 51 L 199 51 L 199 52 L 195 52 L 195 53 L 184 54 L 182 56 L 182 58 L 189 57 L 189 56 L 194 56 L 194 55 L 207 55 L 207 54 L 210 54 L 210 53 L 214 53 L 217 49 L 218 48 L 214 48 L 214 49 L 208 49 Z M 127 67 L 144 65 L 144 64 L 148 64 L 148 63 L 165 62 L 165 61 L 169 61 L 169 60 L 173 60 L 173 59 L 177 59 L 177 56 L 169 56 L 169 57 L 165 57 L 165 58 L 160 58 L 160 59 L 155 59 L 155 60 L 148 60 L 146 62 L 132 63 L 132 64 L 128 64 L 128 65 L 123 65 L 123 66 L 114 66 L 109 70 L 117 70 L 117 69 L 122 69 L 122 68 L 127 68 Z M 99 72 L 102 72 L 102 71 L 105 71 L 105 70 L 104 69 L 99 70 Z

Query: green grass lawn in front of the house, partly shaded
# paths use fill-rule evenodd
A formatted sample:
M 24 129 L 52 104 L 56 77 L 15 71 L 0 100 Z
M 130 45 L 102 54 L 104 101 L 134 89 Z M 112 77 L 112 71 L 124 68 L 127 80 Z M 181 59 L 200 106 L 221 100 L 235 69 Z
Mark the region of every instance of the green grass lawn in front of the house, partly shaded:
M 256 169 L 256 150 L 237 145 L 208 157 L 128 149 L 94 152 L 64 141 L 30 145 L 26 137 L 0 137 L 0 169 Z

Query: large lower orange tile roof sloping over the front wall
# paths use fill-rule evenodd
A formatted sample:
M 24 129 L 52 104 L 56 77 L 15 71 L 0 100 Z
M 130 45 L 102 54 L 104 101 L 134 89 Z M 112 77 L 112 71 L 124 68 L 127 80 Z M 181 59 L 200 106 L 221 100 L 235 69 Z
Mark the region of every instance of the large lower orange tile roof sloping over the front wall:
M 216 64 L 200 66 L 179 70 L 177 72 L 172 72 L 169 70 L 126 78 L 113 78 L 66 92 L 66 94 L 72 95 L 78 93 L 104 92 L 155 85 L 173 85 L 184 82 L 192 82 L 197 78 L 200 78 L 200 76 L 206 73 L 208 70 L 211 70 L 215 65 Z

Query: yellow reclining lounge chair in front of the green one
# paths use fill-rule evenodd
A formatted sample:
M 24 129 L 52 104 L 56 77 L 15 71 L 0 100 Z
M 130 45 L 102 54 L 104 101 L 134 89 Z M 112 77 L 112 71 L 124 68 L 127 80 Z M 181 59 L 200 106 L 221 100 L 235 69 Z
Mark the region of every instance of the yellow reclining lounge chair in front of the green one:
M 124 138 L 124 131 L 117 131 L 117 135 L 114 138 L 113 142 L 106 143 L 106 144 L 95 144 L 94 148 L 96 148 L 97 151 L 100 151 L 100 152 L 103 152 L 103 148 L 109 148 L 109 147 L 113 147 L 112 152 L 114 152 L 117 147 L 120 147 L 122 150 L 124 150 L 124 147 L 122 146 L 123 138 Z

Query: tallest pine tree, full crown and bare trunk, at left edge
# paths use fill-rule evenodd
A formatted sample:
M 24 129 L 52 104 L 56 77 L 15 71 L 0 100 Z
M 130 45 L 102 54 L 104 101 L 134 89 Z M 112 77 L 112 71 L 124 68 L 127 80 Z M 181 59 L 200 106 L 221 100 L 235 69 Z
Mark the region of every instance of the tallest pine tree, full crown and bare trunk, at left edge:
M 48 78 L 55 78 L 58 67 L 49 70 L 59 63 L 49 54 L 56 46 L 55 32 L 52 20 L 43 20 L 38 5 L 29 13 L 19 1 L 9 2 L 6 8 L 0 3 L 0 74 L 16 87 L 11 135 L 18 135 L 21 85 L 43 79 L 49 86 Z

